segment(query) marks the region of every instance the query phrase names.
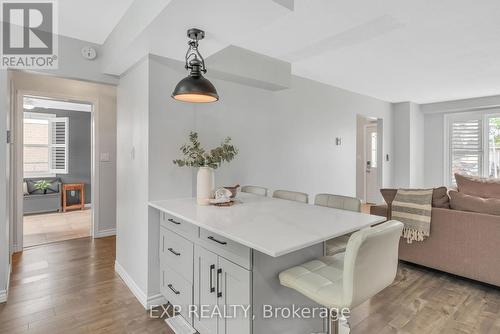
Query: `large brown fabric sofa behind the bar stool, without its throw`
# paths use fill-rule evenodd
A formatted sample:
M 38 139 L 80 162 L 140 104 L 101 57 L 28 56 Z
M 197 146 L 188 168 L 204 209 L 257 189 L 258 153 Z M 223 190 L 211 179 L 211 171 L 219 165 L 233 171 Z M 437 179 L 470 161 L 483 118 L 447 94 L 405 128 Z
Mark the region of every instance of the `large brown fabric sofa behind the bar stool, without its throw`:
M 386 203 L 372 206 L 370 212 L 390 219 L 397 189 L 382 189 L 381 192 Z M 456 193 L 460 193 L 460 187 Z M 481 211 L 481 203 L 464 211 L 455 200 L 455 193 L 451 193 L 451 202 L 446 191 L 444 195 L 446 197 L 443 187 L 434 189 L 430 236 L 411 244 L 401 238 L 399 259 L 500 286 L 500 215 L 470 211 Z M 500 202 L 492 202 L 498 203 L 498 209 Z

